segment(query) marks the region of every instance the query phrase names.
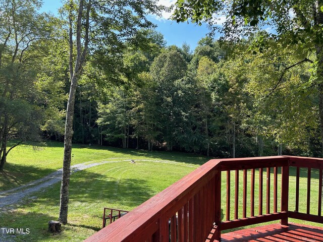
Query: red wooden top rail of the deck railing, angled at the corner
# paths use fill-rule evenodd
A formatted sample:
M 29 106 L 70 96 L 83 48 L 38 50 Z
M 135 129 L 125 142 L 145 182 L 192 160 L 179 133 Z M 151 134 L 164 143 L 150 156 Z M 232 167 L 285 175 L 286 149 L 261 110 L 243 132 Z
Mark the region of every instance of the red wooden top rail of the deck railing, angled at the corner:
M 290 161 L 294 162 L 291 165 L 313 168 L 323 163 L 323 159 L 294 156 L 212 159 L 85 241 L 143 241 L 158 230 L 160 219 L 168 221 L 218 172 L 288 166 Z

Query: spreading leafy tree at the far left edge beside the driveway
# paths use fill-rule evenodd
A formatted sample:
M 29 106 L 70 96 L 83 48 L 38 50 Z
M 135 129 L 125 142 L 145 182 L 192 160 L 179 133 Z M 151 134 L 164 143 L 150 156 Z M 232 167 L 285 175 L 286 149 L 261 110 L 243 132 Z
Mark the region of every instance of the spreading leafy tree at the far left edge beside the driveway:
M 39 7 L 37 0 L 0 2 L 0 170 L 14 147 L 38 138 L 43 119 L 35 80 L 52 18 L 39 14 Z M 7 149 L 10 138 L 18 143 Z

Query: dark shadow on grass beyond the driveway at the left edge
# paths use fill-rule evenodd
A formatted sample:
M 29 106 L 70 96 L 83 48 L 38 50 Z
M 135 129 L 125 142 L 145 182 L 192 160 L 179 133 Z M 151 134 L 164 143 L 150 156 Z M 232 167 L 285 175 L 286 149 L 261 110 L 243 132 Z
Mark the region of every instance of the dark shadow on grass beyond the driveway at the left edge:
M 42 178 L 55 171 L 56 169 L 39 168 L 33 165 L 6 163 L 5 169 L 0 172 L 0 184 L 4 184 L 0 186 L 0 191 L 26 184 L 26 181 Z

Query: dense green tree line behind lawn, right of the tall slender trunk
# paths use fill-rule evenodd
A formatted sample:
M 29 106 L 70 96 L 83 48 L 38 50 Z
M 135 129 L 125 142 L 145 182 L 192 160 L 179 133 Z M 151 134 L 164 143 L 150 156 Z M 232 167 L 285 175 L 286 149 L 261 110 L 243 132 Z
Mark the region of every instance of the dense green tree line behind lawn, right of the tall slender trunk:
M 285 70 L 297 62 L 295 50 L 252 53 L 251 44 L 228 48 L 206 37 L 194 52 L 186 45 L 159 45 L 154 58 L 127 50 L 124 65 L 137 69 L 122 84 L 101 90 L 89 142 L 219 157 L 276 155 L 282 149 L 319 156 L 310 63 Z M 136 57 L 130 60 L 129 53 Z

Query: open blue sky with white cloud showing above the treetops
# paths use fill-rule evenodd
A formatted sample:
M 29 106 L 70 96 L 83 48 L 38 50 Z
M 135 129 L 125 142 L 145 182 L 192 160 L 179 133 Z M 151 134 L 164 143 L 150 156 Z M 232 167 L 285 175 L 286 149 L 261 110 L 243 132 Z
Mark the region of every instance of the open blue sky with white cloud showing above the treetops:
M 176 0 L 159 0 L 160 4 L 170 6 L 174 4 Z M 57 14 L 57 10 L 62 6 L 60 0 L 43 0 L 42 12 L 51 12 Z M 170 14 L 163 13 L 162 18 L 156 16 L 148 16 L 148 19 L 157 25 L 156 30 L 164 35 L 168 45 L 182 46 L 184 42 L 190 45 L 193 50 L 198 40 L 209 32 L 206 25 L 197 26 L 192 23 L 176 23 L 168 20 Z

